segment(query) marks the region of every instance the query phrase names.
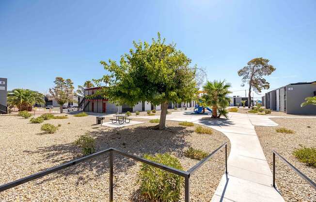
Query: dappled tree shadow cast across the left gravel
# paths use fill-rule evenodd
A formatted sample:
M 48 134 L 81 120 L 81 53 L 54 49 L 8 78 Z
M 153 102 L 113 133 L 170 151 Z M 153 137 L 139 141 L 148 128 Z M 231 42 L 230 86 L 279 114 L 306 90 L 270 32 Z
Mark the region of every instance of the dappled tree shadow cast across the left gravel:
M 185 136 L 191 135 L 191 133 L 192 131 L 189 131 L 182 126 L 168 127 L 168 130 L 163 131 L 152 130 L 148 126 L 138 126 L 121 129 L 101 127 L 98 130 L 90 131 L 87 134 L 95 138 L 96 152 L 106 150 L 108 148 L 115 148 L 129 154 L 143 156 L 145 153 L 181 153 L 183 148 L 190 146 L 190 143 L 185 141 Z M 32 154 L 39 154 L 43 157 L 43 160 L 38 163 L 45 164 L 45 162 L 49 162 L 49 164 L 53 164 L 55 166 L 82 157 L 81 149 L 74 144 L 57 144 L 48 147 L 40 147 L 36 151 L 24 152 L 31 157 Z M 113 168 L 114 175 L 120 172 L 128 172 L 129 168 L 134 166 L 136 163 L 137 161 L 135 160 L 115 154 Z M 42 184 L 56 178 L 66 179 L 66 177 L 70 175 L 78 175 L 77 183 L 84 183 L 85 181 L 90 180 L 92 176 L 79 177 L 79 174 L 84 174 L 88 171 L 93 171 L 93 177 L 99 177 L 105 172 L 108 172 L 109 153 L 57 171 L 54 174 L 50 174 L 45 177 L 45 179 L 39 180 L 38 184 Z

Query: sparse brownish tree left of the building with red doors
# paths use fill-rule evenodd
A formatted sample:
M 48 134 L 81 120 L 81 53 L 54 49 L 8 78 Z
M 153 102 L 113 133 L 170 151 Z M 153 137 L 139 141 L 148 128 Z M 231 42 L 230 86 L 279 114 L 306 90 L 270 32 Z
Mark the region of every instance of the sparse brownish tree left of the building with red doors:
M 54 84 L 54 87 L 49 88 L 49 93 L 59 104 L 60 113 L 63 113 L 63 104 L 74 101 L 74 83 L 70 79 L 56 77 Z

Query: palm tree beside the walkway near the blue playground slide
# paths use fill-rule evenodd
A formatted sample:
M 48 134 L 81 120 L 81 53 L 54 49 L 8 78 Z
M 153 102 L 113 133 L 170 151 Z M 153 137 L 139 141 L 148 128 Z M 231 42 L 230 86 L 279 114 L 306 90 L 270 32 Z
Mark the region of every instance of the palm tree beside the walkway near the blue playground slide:
M 228 90 L 231 85 L 224 81 L 214 81 L 207 82 L 203 86 L 203 90 L 205 90 L 206 94 L 204 94 L 205 103 L 208 106 L 212 107 L 212 118 L 220 118 L 221 115 L 226 117 L 225 108 L 229 106 L 230 99 L 227 98 L 227 94 L 232 93 Z M 219 110 L 220 115 L 217 115 L 217 111 Z

